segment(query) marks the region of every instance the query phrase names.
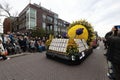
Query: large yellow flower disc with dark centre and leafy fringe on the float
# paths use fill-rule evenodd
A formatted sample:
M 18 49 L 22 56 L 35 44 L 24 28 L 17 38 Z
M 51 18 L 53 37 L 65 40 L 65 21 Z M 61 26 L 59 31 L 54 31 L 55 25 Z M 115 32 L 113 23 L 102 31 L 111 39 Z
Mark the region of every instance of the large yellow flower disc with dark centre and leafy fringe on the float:
M 69 38 L 84 39 L 90 45 L 95 38 L 94 29 L 86 20 L 73 22 L 68 27 Z

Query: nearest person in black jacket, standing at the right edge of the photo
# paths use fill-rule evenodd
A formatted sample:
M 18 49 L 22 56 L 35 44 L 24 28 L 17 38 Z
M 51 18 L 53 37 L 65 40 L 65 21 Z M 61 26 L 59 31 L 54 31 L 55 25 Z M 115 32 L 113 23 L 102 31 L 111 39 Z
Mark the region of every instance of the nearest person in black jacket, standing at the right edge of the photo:
M 107 38 L 108 50 L 106 57 L 112 64 L 115 80 L 120 80 L 120 31 Z

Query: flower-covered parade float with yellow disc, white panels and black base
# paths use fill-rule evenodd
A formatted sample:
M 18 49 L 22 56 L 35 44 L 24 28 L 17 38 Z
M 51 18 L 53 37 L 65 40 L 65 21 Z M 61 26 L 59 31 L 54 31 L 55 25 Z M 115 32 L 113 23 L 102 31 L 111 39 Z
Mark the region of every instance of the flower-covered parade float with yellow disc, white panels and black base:
M 92 53 L 94 29 L 86 20 L 75 21 L 61 38 L 52 35 L 46 41 L 46 57 L 60 58 L 67 61 L 81 61 Z

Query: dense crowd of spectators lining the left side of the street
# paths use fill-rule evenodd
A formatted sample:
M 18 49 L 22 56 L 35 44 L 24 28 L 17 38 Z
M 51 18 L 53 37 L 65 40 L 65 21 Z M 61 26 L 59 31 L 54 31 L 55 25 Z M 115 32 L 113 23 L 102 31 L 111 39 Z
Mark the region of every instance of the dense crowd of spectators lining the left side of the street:
M 25 33 L 11 33 L 1 35 L 4 49 L 8 51 L 8 55 L 22 52 L 42 52 L 45 51 L 46 37 L 31 37 Z

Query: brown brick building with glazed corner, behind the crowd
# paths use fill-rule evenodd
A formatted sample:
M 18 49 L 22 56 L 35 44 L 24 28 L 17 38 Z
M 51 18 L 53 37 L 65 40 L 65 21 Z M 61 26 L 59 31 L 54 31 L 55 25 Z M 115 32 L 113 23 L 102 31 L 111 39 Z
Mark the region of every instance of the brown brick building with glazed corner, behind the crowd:
M 59 19 L 58 14 L 38 4 L 28 4 L 12 23 L 12 32 L 44 29 L 46 34 L 66 32 L 69 22 Z

